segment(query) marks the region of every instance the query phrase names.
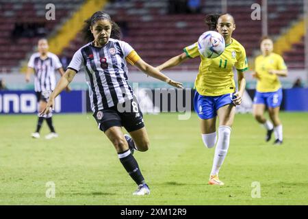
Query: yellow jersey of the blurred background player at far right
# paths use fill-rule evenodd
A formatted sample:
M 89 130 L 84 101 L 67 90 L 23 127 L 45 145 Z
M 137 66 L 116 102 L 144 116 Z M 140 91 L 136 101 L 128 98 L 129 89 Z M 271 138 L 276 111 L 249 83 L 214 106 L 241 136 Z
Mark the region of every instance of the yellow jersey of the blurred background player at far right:
M 281 88 L 279 77 L 275 74 L 268 73 L 268 70 L 286 70 L 287 66 L 283 57 L 276 53 L 270 55 L 259 55 L 255 59 L 255 71 L 258 73 L 257 91 L 274 92 Z

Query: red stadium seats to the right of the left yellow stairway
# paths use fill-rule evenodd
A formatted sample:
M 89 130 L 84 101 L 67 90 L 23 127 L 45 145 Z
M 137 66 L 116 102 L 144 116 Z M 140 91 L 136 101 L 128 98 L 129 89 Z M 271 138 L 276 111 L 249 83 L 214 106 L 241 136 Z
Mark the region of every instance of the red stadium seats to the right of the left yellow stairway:
M 253 3 L 261 4 L 261 1 L 228 1 L 228 12 L 233 14 L 237 25 L 233 37 L 244 45 L 248 58 L 253 58 L 259 50 L 261 36 L 261 21 L 251 19 Z M 268 34 L 274 38 L 298 20 L 303 8 L 303 1 L 299 0 L 269 1 L 268 4 Z M 168 0 L 131 0 L 113 1 L 104 10 L 116 22 L 125 23 L 123 40 L 129 42 L 146 62 L 156 66 L 180 54 L 183 47 L 196 42 L 198 36 L 208 30 L 204 23 L 204 14 L 221 12 L 221 5 L 220 1 L 202 1 L 200 14 L 168 14 Z M 64 49 L 64 53 L 71 57 L 82 44 L 84 42 L 79 34 Z M 287 64 L 291 68 L 303 66 L 300 55 L 296 57 L 286 54 Z M 294 64 L 295 62 L 300 64 Z M 199 60 L 194 59 L 172 69 L 196 71 L 198 64 Z

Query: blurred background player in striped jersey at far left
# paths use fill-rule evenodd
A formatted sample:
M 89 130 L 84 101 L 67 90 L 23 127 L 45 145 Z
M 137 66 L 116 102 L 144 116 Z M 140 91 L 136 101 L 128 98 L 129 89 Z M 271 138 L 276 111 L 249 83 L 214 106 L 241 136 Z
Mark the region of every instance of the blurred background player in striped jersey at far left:
M 31 55 L 28 62 L 27 73 L 25 75 L 25 81 L 30 81 L 31 73 L 34 73 L 34 90 L 38 100 L 38 112 L 46 107 L 46 103 L 49 99 L 49 95 L 55 88 L 55 70 L 58 70 L 60 75 L 64 75 L 62 64 L 57 55 L 50 53 L 48 41 L 45 38 L 38 40 L 38 53 Z M 66 88 L 69 90 L 69 88 Z M 38 113 L 38 123 L 36 125 L 36 131 L 31 133 L 32 138 L 40 138 L 40 128 L 44 119 L 46 119 L 47 125 L 51 133 L 47 134 L 45 138 L 57 138 L 58 134 L 55 132 L 52 120 L 53 113 L 40 116 Z

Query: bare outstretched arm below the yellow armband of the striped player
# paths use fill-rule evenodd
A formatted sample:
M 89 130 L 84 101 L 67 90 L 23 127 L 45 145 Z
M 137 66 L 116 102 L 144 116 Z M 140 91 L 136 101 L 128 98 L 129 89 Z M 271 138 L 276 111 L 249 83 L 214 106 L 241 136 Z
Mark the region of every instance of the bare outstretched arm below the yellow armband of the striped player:
M 183 83 L 179 83 L 177 81 L 172 81 L 172 79 L 168 78 L 166 75 L 161 73 L 157 68 L 154 68 L 153 66 L 147 64 L 142 59 L 138 60 L 135 65 L 137 68 L 142 70 L 147 75 L 150 75 L 151 77 L 154 77 L 156 79 L 159 79 L 161 81 L 164 81 L 168 83 L 170 86 L 174 86 L 176 88 L 183 88 Z

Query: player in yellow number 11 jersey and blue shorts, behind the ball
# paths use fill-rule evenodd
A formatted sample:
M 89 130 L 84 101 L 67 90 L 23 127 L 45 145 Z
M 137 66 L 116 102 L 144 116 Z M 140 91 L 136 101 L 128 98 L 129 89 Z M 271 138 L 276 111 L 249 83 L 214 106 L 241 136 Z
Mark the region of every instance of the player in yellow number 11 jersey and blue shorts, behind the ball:
M 216 116 L 219 118 L 218 141 L 209 184 L 224 185 L 218 178 L 218 172 L 229 148 L 235 105 L 240 105 L 242 102 L 242 94 L 246 85 L 243 72 L 248 66 L 244 47 L 231 37 L 235 30 L 233 16 L 210 14 L 205 22 L 210 30 L 217 29 L 224 37 L 226 49 L 220 56 L 214 59 L 202 57 L 198 52 L 196 42 L 185 47 L 184 53 L 172 57 L 157 68 L 163 70 L 176 66 L 188 58 L 201 57 L 201 64 L 194 83 L 196 88 L 194 110 L 200 118 L 202 139 L 207 148 L 212 148 L 216 144 Z M 238 92 L 235 92 L 233 66 L 238 70 Z

